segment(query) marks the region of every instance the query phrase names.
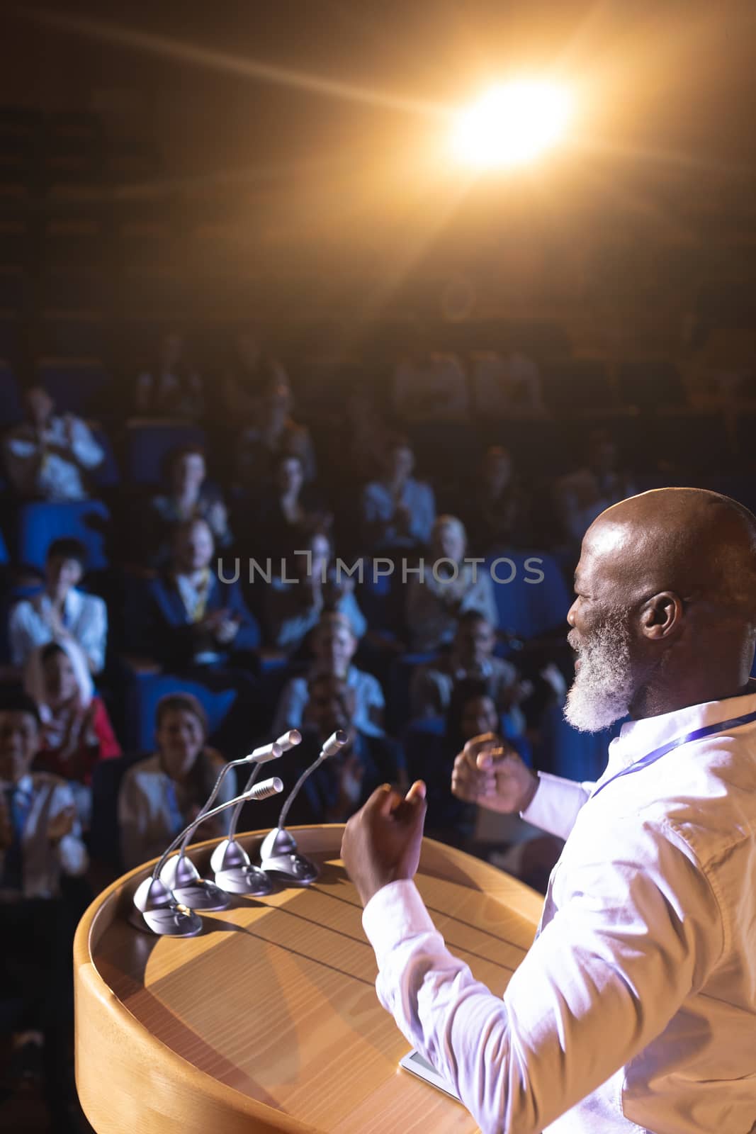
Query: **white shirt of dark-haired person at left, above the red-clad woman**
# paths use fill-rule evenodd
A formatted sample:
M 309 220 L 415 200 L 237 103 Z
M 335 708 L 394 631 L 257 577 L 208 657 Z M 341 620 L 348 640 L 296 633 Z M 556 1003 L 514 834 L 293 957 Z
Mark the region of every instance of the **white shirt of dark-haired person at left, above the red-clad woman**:
M 52 642 L 50 627 L 52 600 L 46 591 L 23 599 L 10 611 L 10 657 L 14 666 L 26 665 L 33 651 Z M 84 594 L 75 587 L 66 595 L 63 626 L 86 655 L 94 674 L 105 663 L 108 608 L 96 594 Z

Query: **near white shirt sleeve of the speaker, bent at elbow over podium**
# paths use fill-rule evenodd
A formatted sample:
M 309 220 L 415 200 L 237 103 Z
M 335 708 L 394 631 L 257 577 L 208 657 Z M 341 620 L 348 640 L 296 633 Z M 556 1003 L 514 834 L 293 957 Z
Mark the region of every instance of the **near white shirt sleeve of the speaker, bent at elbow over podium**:
M 723 948 L 713 891 L 669 832 L 614 823 L 503 999 L 435 930 L 413 882 L 367 904 L 377 995 L 483 1134 L 540 1134 L 666 1026 Z

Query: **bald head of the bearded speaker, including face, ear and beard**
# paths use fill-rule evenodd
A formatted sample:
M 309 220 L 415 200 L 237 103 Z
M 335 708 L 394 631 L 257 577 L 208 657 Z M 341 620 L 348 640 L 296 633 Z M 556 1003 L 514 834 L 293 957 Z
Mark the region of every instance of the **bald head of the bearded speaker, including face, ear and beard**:
M 756 517 L 704 489 L 622 500 L 586 532 L 575 591 L 578 727 L 733 696 L 756 641 Z

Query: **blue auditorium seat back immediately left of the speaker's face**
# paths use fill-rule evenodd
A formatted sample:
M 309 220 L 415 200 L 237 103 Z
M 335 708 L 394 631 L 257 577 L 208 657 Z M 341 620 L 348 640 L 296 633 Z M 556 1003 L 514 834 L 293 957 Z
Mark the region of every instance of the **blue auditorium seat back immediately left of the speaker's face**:
M 508 560 L 495 565 L 496 578 L 492 579 L 499 628 L 524 638 L 558 629 L 572 600 L 557 560 L 542 551 L 507 551 L 489 557 L 479 569 L 491 570 L 496 559 Z M 544 575 L 541 582 L 526 582 L 538 572 Z M 510 577 L 511 582 L 504 582 Z

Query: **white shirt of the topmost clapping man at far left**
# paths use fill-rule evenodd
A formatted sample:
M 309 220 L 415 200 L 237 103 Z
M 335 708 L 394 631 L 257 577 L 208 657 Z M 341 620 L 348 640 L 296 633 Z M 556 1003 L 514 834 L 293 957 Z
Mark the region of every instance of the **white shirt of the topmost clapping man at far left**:
M 44 451 L 32 426 L 16 426 L 6 434 L 3 448 L 6 468 L 15 490 L 25 497 L 39 496 L 49 501 L 86 500 L 87 491 L 82 480 L 82 468 L 92 469 L 102 464 L 104 451 L 94 439 L 88 425 L 80 417 L 67 415 L 51 417 L 44 432 L 44 445 L 70 452 Z M 40 457 L 42 458 L 40 460 Z

